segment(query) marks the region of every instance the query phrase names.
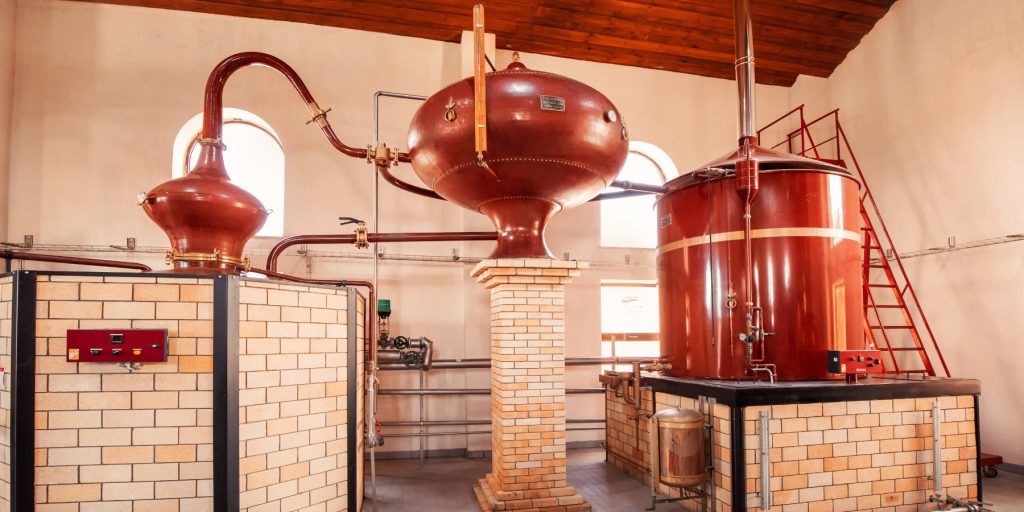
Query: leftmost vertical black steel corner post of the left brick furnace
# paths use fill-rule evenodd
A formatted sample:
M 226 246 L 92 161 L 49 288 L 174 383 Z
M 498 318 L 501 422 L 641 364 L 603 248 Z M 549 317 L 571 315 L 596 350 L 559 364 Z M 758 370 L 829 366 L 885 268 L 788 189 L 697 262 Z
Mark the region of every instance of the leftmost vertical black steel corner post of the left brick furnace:
M 10 510 L 36 507 L 36 275 L 13 272 L 10 372 Z

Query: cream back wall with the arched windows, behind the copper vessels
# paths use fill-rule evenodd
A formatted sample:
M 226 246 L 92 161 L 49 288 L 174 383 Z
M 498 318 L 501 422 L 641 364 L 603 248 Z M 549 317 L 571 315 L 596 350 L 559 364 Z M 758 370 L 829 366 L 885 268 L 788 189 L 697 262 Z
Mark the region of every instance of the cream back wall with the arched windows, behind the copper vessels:
M 18 0 L 16 16 L 15 123 L 6 227 L 9 238 L 34 234 L 39 244 L 105 246 L 135 237 L 140 246 L 166 247 L 163 233 L 134 199 L 170 177 L 174 136 L 200 112 L 210 70 L 230 53 L 266 51 L 291 63 L 322 106 L 334 109 L 330 119 L 342 138 L 356 146 L 372 138 L 374 91 L 430 94 L 461 78 L 460 46 L 424 39 L 54 0 Z M 509 59 L 507 52 L 498 52 L 499 66 Z M 680 169 L 695 167 L 733 146 L 732 81 L 541 55 L 524 54 L 522 59 L 531 68 L 567 75 L 601 90 L 624 113 L 631 136 L 660 145 Z M 785 111 L 788 92 L 762 87 L 759 99 L 766 119 Z M 404 146 L 417 104 L 387 100 L 383 105 L 381 138 Z M 274 72 L 239 72 L 227 86 L 225 106 L 259 115 L 283 139 L 288 168 L 286 236 L 338 232 L 339 215 L 370 217 L 371 168 L 335 153 L 315 128 L 305 126 L 304 106 Z M 408 168 L 397 173 L 417 181 Z M 596 205 L 559 214 L 550 227 L 553 251 L 615 263 L 631 254 L 641 266 L 595 265 L 569 287 L 570 356 L 599 355 L 601 279 L 651 279 L 654 273 L 651 251 L 597 247 L 598 216 Z M 478 214 L 383 183 L 380 228 L 475 230 L 490 225 Z M 257 240 L 249 247 L 265 249 L 273 242 Z M 485 256 L 490 244 L 391 245 L 385 251 L 440 256 L 450 255 L 453 248 L 463 255 Z M 328 249 L 354 252 L 347 247 Z M 348 279 L 370 274 L 365 261 L 314 259 L 307 267 L 301 257 L 291 254 L 282 261 L 288 272 Z M 145 260 L 164 268 L 160 255 L 106 256 Z M 380 288 L 395 308 L 392 330 L 438 341 L 439 357 L 486 357 L 487 295 L 468 272 L 464 264 L 386 262 Z M 596 369 L 570 369 L 568 374 L 570 387 L 597 386 Z M 434 387 L 488 386 L 487 371 L 431 372 L 427 378 Z M 412 373 L 386 373 L 382 379 L 385 387 L 417 384 Z M 428 419 L 489 415 L 484 396 L 435 397 L 429 402 Z M 413 419 L 416 399 L 383 398 L 381 412 L 384 419 Z M 568 414 L 601 417 L 603 403 L 598 396 L 572 397 Z M 600 433 L 573 434 L 569 439 L 600 437 Z M 474 436 L 468 446 L 486 449 L 488 439 Z M 392 438 L 385 449 L 416 445 L 412 439 Z M 430 449 L 460 446 L 467 446 L 461 436 L 431 439 L 429 444 Z

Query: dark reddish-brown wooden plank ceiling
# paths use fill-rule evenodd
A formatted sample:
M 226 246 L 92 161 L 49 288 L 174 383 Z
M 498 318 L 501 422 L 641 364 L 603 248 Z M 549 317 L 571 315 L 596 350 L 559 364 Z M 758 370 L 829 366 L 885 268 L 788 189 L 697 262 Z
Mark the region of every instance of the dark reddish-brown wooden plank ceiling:
M 479 0 L 82 0 L 458 42 Z M 483 0 L 499 48 L 733 78 L 732 0 Z M 759 83 L 827 77 L 895 0 L 751 0 Z

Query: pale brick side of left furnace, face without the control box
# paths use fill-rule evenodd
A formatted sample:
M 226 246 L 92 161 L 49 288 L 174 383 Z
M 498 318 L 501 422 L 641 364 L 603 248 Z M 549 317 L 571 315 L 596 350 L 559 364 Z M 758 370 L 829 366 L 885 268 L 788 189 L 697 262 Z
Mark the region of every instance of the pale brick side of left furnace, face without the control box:
M 346 510 L 344 289 L 241 282 L 240 507 Z

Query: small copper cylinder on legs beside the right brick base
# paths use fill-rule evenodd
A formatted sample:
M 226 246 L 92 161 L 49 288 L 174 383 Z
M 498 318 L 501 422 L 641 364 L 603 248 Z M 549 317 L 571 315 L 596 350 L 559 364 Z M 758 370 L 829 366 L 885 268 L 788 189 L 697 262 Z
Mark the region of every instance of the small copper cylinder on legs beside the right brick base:
M 666 409 L 652 418 L 657 481 L 693 487 L 708 479 L 705 417 L 692 409 Z

